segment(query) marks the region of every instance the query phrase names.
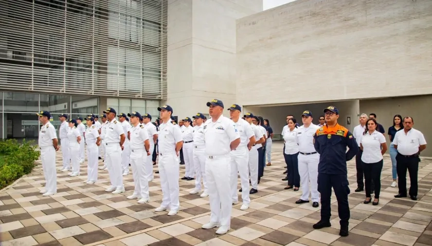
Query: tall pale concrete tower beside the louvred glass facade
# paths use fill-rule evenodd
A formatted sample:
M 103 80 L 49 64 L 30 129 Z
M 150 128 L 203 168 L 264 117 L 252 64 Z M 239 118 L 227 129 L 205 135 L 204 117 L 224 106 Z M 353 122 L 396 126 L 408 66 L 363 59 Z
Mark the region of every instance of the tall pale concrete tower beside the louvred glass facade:
M 236 102 L 236 19 L 262 0 L 168 1 L 168 100 L 179 118 L 207 113 L 206 102 Z M 225 112 L 226 115 L 227 112 Z

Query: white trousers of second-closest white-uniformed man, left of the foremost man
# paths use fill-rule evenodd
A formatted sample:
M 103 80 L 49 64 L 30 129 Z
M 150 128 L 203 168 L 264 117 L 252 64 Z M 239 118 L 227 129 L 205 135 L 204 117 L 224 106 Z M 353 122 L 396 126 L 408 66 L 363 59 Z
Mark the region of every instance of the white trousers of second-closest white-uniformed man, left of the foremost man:
M 170 210 L 178 211 L 180 202 L 178 187 L 180 161 L 175 153 L 160 154 L 159 153 L 159 177 L 160 187 L 162 188 L 162 203 L 160 207 L 169 208 Z

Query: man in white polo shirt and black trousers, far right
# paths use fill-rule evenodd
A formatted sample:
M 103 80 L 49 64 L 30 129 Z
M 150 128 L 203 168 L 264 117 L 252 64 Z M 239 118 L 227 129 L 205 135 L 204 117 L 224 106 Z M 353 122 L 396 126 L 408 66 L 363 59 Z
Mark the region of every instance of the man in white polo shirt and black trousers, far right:
M 417 200 L 418 183 L 417 174 L 419 171 L 420 152 L 426 149 L 426 140 L 423 133 L 412 128 L 414 120 L 412 117 L 405 117 L 403 120 L 404 130 L 394 135 L 393 146 L 398 150 L 396 169 L 398 172 L 399 194 L 394 197 L 406 197 L 406 170 L 409 172 L 411 187 L 409 196 L 411 200 Z

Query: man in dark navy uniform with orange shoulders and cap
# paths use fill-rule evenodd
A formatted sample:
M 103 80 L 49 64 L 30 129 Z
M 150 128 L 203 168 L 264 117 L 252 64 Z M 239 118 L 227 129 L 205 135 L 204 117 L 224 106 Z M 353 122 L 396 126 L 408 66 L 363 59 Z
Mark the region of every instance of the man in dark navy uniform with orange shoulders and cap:
M 314 134 L 314 147 L 319 153 L 318 164 L 318 191 L 321 193 L 321 220 L 314 224 L 314 229 L 331 227 L 330 197 L 332 187 L 337 199 L 340 218 L 339 235 L 348 236 L 348 220 L 350 208 L 348 207 L 347 161 L 358 152 L 357 143 L 351 132 L 337 124 L 339 111 L 330 106 L 324 110 L 327 125 L 319 128 Z M 347 147 L 349 151 L 347 152 Z

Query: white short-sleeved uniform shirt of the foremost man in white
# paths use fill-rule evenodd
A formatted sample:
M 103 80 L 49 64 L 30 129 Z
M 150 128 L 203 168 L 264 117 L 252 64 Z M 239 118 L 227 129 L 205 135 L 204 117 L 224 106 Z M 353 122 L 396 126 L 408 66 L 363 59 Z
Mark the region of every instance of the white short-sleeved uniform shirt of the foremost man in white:
M 206 154 L 209 156 L 227 155 L 231 152 L 231 142 L 240 138 L 232 121 L 221 115 L 216 122 L 207 120 L 204 125 Z

